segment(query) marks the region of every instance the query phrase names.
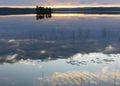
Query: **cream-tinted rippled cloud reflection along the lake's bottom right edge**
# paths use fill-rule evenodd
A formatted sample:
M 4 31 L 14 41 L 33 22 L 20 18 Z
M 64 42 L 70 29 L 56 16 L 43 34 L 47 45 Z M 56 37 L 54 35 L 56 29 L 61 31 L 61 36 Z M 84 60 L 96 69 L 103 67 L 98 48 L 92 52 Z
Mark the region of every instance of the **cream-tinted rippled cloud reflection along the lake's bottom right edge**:
M 47 76 L 38 78 L 39 86 L 119 86 L 120 71 L 103 68 L 99 72 L 69 71 L 56 72 L 51 79 Z

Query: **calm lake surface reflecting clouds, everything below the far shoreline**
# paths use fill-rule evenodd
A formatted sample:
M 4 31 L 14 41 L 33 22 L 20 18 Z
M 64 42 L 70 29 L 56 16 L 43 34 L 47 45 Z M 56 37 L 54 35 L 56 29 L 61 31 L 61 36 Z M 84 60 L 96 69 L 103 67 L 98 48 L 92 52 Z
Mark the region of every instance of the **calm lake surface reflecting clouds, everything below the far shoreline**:
M 120 15 L 0 16 L 0 86 L 119 86 Z

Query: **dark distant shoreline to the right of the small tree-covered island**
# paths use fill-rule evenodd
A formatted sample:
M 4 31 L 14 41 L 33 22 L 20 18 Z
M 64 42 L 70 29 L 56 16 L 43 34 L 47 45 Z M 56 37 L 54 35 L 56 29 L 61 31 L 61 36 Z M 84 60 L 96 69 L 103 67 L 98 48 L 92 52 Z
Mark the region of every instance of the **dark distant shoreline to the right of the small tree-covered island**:
M 120 7 L 56 8 L 54 13 L 120 14 Z

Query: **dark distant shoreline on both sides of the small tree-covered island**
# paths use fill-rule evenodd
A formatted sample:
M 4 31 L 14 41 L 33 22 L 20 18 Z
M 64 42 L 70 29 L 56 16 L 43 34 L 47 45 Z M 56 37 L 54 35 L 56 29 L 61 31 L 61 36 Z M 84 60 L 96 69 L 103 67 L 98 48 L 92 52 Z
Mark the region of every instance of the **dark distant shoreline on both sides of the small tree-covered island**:
M 53 8 L 53 13 L 120 14 L 120 7 Z M 36 8 L 0 7 L 0 15 L 36 14 Z

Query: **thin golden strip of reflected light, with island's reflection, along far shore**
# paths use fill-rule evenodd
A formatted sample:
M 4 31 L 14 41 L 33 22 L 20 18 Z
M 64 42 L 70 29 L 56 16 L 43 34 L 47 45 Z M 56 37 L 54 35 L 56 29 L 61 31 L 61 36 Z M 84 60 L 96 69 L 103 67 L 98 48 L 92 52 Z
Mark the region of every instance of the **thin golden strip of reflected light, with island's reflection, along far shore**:
M 32 17 L 36 16 L 36 20 L 49 19 L 52 17 L 120 17 L 120 14 L 84 14 L 84 13 L 50 13 L 50 14 L 8 14 L 0 15 L 0 17 Z

